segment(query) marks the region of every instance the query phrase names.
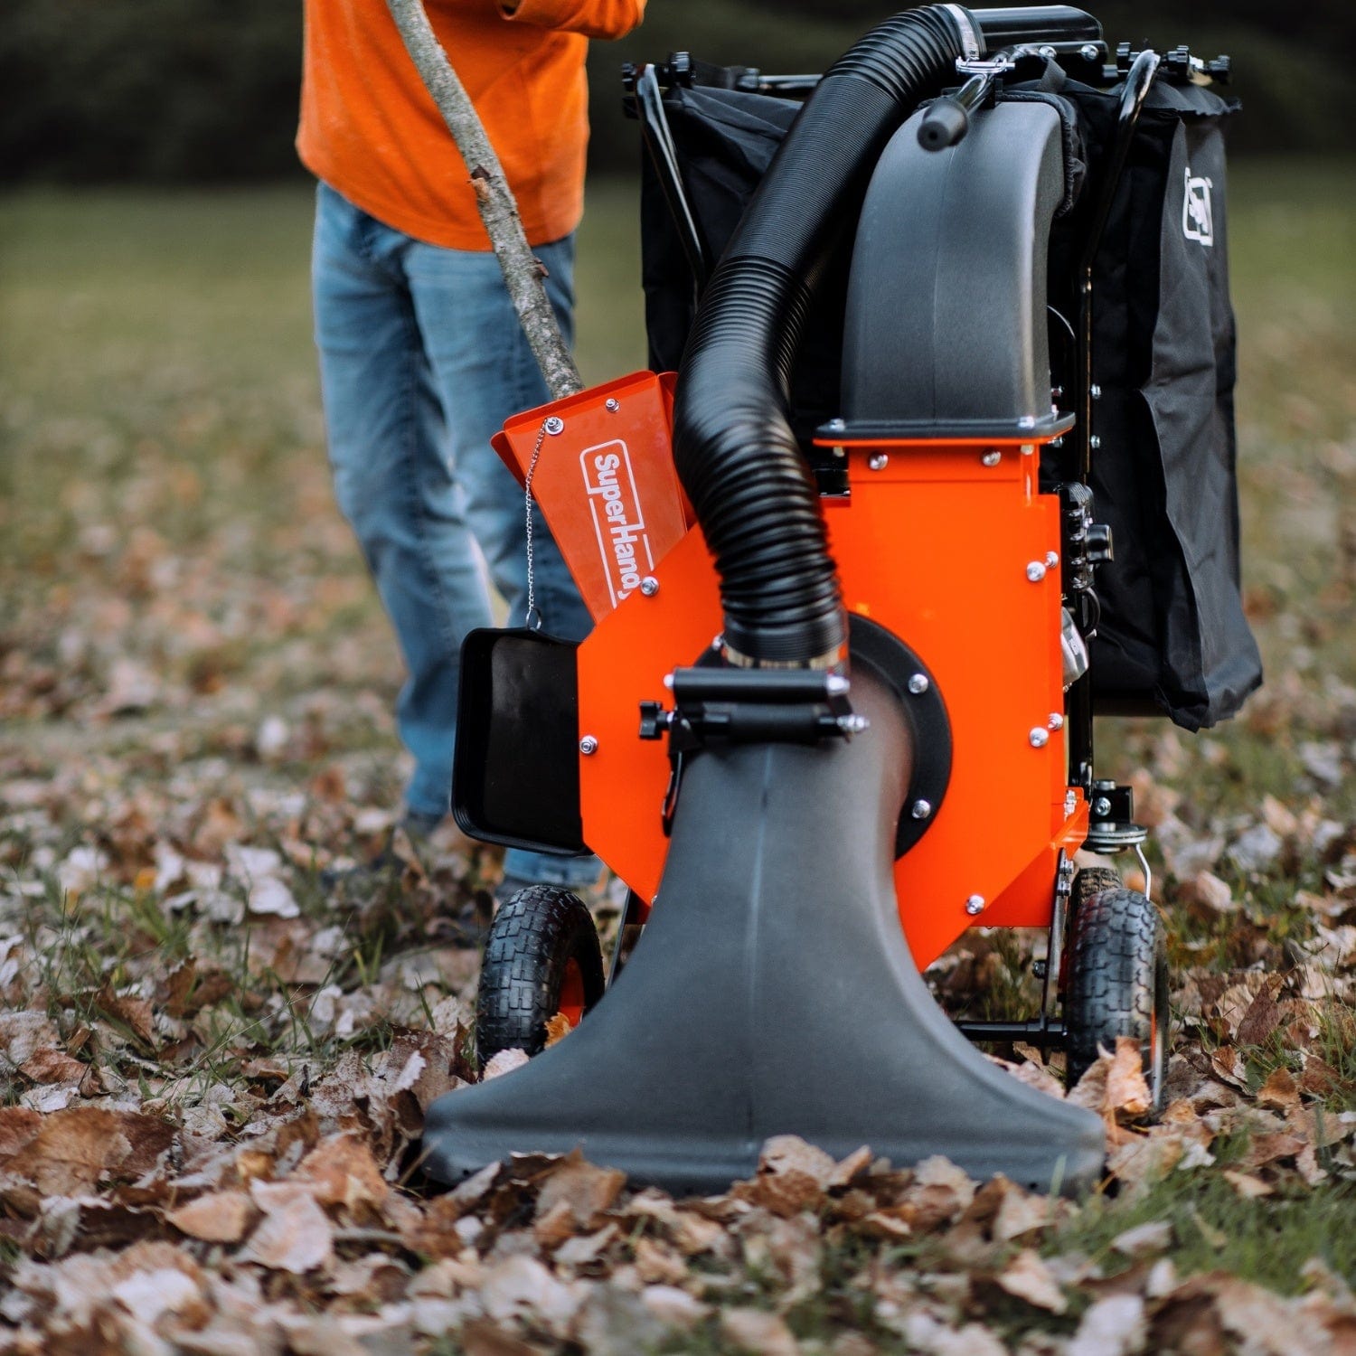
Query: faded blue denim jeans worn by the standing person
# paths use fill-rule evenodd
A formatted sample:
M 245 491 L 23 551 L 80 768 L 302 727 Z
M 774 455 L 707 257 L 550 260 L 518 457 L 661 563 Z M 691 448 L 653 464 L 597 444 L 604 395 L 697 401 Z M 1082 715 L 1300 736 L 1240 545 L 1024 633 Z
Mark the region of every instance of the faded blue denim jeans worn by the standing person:
M 574 237 L 536 250 L 572 334 Z M 391 617 L 408 679 L 400 738 L 420 818 L 447 812 L 461 641 L 492 625 L 484 570 L 519 625 L 527 593 L 523 492 L 490 446 L 509 415 L 549 399 L 495 256 L 442 250 L 367 216 L 328 184 L 316 195 L 312 296 L 335 496 Z M 545 629 L 582 640 L 591 621 L 541 521 L 536 599 Z M 484 568 L 481 567 L 484 563 Z M 593 857 L 510 849 L 523 880 L 583 885 Z

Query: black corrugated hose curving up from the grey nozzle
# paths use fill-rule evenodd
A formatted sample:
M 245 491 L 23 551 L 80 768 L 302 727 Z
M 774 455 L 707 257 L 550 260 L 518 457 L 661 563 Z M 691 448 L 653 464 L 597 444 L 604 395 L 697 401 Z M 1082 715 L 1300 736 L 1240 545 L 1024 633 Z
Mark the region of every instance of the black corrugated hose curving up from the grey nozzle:
M 979 33 L 967 20 L 956 5 L 909 9 L 839 58 L 702 296 L 678 377 L 674 460 L 716 557 L 736 662 L 827 666 L 843 650 L 838 574 L 786 419 L 791 367 L 816 278 L 880 152 L 921 99 L 955 83 Z

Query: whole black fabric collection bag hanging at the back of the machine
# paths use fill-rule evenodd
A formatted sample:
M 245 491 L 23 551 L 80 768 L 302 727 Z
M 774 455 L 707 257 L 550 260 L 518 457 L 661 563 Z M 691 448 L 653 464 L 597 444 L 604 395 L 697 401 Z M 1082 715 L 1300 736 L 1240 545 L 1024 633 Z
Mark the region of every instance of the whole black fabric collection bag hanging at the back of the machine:
M 1041 87 L 1033 87 L 1039 89 Z M 1059 81 L 1071 110 L 1079 202 L 1051 237 L 1051 292 L 1075 316 L 1071 281 L 1102 182 L 1120 89 Z M 664 111 L 693 216 L 719 259 L 800 104 L 736 89 L 674 88 Z M 1094 267 L 1094 513 L 1116 559 L 1102 565 L 1093 700 L 1104 713 L 1162 712 L 1186 730 L 1234 715 L 1261 683 L 1238 571 L 1234 317 L 1226 259 L 1222 125 L 1231 106 L 1155 81 Z M 845 222 L 849 231 L 853 222 Z M 692 270 L 644 161 L 641 254 L 651 366 L 678 366 L 696 309 Z M 808 443 L 838 415 L 850 250 L 838 251 L 792 377 L 792 423 Z

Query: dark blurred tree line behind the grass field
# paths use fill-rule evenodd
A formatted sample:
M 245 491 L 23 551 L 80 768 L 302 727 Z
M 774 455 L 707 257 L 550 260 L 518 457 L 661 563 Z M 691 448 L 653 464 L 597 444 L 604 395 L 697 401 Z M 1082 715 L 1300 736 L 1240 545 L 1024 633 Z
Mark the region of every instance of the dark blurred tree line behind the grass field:
M 594 165 L 635 163 L 618 114 L 624 60 L 685 49 L 763 71 L 823 69 L 892 12 L 885 0 L 651 0 L 620 43 L 595 43 Z M 1235 151 L 1351 148 L 1351 0 L 1105 0 L 1112 43 L 1229 52 L 1246 117 Z M 4 0 L 0 179 L 212 182 L 297 172 L 301 5 L 279 0 Z M 452 53 L 456 61 L 456 53 Z

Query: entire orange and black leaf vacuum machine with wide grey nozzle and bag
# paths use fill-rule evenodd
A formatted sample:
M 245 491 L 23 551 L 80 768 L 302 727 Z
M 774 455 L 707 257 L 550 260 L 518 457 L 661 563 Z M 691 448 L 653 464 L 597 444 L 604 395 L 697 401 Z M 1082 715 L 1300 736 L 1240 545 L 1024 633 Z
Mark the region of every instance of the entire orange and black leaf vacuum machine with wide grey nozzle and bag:
M 480 1052 L 534 1058 L 434 1104 L 435 1180 L 579 1146 L 717 1191 L 796 1134 L 1078 1191 L 1100 1119 L 975 1041 L 1077 1078 L 1128 1036 L 1161 1101 L 1163 926 L 1093 728 L 1197 730 L 1261 681 L 1227 76 L 1081 9 L 953 4 L 823 76 L 626 71 L 651 370 L 496 442 L 595 628 L 468 639 L 453 800 L 485 841 L 597 853 L 628 903 L 607 976 L 572 894 L 500 909 Z M 1144 892 L 1083 849 L 1139 854 Z M 1039 1012 L 934 1002 L 971 928 L 1048 932 Z

